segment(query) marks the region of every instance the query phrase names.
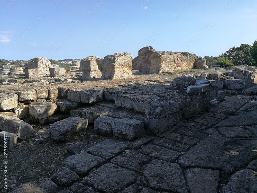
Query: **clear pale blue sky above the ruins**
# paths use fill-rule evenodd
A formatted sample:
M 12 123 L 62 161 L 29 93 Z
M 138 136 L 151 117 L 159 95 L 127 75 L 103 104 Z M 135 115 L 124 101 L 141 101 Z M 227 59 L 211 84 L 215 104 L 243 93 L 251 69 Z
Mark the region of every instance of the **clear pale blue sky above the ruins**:
M 218 56 L 257 39 L 256 0 L 1 0 L 0 58 L 54 60 L 144 46 Z

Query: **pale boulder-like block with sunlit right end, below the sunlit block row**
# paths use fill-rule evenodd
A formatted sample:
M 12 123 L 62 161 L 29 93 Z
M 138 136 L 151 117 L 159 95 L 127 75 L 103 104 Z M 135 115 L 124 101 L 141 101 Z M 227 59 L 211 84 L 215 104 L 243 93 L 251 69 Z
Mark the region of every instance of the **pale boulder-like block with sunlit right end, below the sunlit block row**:
M 52 102 L 38 102 L 29 105 L 29 112 L 36 119 L 43 119 L 52 116 L 58 107 Z

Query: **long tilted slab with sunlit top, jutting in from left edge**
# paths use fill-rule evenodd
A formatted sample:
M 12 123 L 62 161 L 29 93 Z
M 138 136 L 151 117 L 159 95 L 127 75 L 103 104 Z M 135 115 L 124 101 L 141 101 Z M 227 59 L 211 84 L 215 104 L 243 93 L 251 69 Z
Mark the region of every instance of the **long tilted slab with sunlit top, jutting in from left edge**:
M 17 137 L 24 140 L 30 135 L 33 127 L 19 118 L 0 115 L 0 130 L 17 134 Z

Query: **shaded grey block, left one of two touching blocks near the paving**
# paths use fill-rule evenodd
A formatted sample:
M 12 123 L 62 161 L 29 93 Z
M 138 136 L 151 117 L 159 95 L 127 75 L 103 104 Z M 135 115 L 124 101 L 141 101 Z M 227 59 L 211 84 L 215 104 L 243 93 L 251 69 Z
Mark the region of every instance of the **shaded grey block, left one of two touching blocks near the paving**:
M 94 131 L 102 135 L 112 136 L 112 123 L 115 120 L 118 119 L 107 116 L 98 117 L 94 122 Z

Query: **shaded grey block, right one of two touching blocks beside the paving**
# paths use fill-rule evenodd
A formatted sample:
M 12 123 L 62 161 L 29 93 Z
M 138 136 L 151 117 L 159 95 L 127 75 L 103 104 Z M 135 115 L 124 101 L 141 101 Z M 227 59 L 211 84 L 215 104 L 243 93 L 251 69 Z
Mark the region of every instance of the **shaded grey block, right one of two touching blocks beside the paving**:
M 144 123 L 135 119 L 117 119 L 112 123 L 113 135 L 124 139 L 136 139 L 144 130 Z

